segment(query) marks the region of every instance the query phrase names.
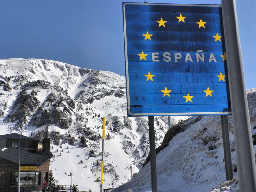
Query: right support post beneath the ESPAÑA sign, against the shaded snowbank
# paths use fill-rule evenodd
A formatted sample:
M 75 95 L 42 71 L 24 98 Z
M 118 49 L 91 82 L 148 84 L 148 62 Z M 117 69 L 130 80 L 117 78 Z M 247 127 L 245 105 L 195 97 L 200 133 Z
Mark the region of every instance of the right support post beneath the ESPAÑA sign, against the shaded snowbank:
M 226 179 L 227 181 L 229 181 L 233 179 L 233 170 L 232 170 L 229 133 L 228 133 L 228 117 L 227 115 L 221 115 L 220 119 L 221 119 Z

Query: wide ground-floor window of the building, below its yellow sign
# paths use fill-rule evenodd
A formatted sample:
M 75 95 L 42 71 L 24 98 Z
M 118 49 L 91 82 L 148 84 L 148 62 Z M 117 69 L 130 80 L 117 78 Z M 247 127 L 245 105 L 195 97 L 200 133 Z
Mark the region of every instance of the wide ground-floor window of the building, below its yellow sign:
M 18 185 L 18 172 L 11 174 L 11 186 Z M 39 172 L 22 171 L 20 172 L 20 186 L 39 185 Z

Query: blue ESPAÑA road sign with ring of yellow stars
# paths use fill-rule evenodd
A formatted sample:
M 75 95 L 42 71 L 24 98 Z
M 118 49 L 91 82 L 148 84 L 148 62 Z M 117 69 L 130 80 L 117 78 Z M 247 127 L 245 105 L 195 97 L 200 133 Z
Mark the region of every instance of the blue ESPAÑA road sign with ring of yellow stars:
M 221 5 L 123 3 L 128 116 L 231 114 Z

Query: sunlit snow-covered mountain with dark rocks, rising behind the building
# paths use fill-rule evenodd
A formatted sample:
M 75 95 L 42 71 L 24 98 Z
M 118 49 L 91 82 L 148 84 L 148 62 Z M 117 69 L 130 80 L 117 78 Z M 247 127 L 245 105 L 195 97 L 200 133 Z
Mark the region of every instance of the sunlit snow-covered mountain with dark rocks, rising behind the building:
M 42 139 L 46 126 L 54 154 L 50 167 L 60 185 L 99 191 L 101 135 L 106 117 L 103 188 L 137 173 L 149 153 L 148 118 L 126 117 L 125 77 L 41 59 L 0 60 L 0 134 Z M 172 117 L 172 125 L 180 119 Z M 168 118 L 156 117 L 156 147 Z M 72 172 L 72 176 L 71 173 Z M 97 179 L 98 178 L 98 179 Z

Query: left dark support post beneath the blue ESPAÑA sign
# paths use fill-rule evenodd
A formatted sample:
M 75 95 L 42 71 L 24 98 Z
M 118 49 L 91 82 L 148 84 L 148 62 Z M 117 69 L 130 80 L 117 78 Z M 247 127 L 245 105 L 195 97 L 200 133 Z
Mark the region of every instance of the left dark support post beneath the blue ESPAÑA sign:
M 148 126 L 149 126 L 149 146 L 150 146 L 150 166 L 151 166 L 151 188 L 152 188 L 152 192 L 157 192 L 154 116 L 148 117 Z

